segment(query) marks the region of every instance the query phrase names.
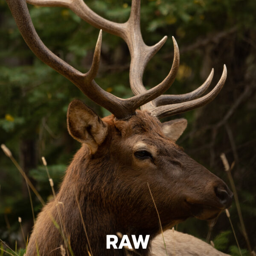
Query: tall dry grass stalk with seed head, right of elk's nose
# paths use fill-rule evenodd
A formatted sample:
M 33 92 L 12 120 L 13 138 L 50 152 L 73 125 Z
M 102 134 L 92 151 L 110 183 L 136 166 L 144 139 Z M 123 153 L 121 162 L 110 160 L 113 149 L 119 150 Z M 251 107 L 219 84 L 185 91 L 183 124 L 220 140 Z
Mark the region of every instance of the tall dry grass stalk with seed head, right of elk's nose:
M 233 162 L 231 164 L 231 167 L 229 167 L 230 165 L 229 165 L 229 163 L 227 161 L 227 157 L 224 153 L 221 154 L 221 160 L 222 160 L 222 163 L 224 165 L 225 171 L 227 172 L 227 177 L 230 181 L 231 189 L 232 189 L 233 194 L 234 194 L 234 199 L 235 199 L 235 202 L 236 202 L 236 209 L 237 209 L 238 216 L 239 216 L 239 221 L 240 221 L 240 224 L 241 224 L 242 234 L 243 234 L 244 239 L 246 241 L 247 248 L 250 252 L 250 255 L 255 256 L 255 252 L 252 250 L 252 247 L 250 245 L 250 241 L 249 241 L 246 229 L 245 229 L 244 219 L 243 219 L 243 216 L 242 216 L 241 207 L 240 207 L 240 203 L 239 203 L 239 199 L 238 199 L 238 194 L 237 194 L 237 191 L 236 191 L 236 185 L 235 185 L 235 182 L 234 182 L 232 174 L 231 174 L 231 170 L 234 168 L 235 162 Z M 229 168 L 227 169 L 227 167 L 229 167 Z

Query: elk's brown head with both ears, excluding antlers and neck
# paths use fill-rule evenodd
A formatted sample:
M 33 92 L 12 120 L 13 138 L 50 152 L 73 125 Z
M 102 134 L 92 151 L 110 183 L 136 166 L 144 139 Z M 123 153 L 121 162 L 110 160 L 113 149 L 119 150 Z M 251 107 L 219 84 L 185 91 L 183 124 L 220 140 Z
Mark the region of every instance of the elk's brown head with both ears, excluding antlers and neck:
M 159 228 L 147 183 L 165 228 L 190 216 L 215 218 L 230 205 L 226 184 L 175 143 L 186 128 L 186 119 L 160 123 L 150 112 L 139 110 L 125 120 L 113 116 L 100 119 L 74 100 L 67 122 L 70 134 L 93 154 L 88 167 L 91 172 L 99 169 L 99 160 L 104 163 L 100 172 L 106 170 L 102 183 L 108 187 L 99 198 L 107 197 L 105 207 L 119 212 L 128 227 L 136 223 L 145 230 Z

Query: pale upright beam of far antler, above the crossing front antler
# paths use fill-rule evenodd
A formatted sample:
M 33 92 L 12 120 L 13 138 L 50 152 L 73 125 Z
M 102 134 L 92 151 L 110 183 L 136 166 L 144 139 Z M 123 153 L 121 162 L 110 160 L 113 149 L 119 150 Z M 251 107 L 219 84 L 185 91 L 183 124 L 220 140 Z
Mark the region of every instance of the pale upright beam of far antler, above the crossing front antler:
M 154 46 L 147 46 L 140 31 L 140 0 L 133 0 L 131 14 L 127 22 L 116 23 L 100 17 L 83 0 L 27 0 L 37 6 L 64 6 L 71 9 L 81 19 L 99 29 L 123 38 L 131 54 L 130 84 L 135 95 L 146 92 L 143 85 L 143 72 L 148 61 L 166 42 L 165 36 Z M 168 79 L 168 78 L 167 78 Z M 171 86 L 171 83 L 169 84 Z M 168 88 L 167 88 L 168 89 Z M 167 90 L 166 89 L 166 90 Z

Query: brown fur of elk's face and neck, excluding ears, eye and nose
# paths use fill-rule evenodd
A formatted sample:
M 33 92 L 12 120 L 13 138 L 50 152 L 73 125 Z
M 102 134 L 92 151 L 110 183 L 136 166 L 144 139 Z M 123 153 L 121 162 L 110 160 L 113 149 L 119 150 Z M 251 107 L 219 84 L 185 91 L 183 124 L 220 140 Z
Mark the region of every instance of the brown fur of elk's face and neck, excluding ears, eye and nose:
M 128 120 L 102 120 L 108 126 L 105 140 L 95 154 L 86 144 L 75 154 L 57 194 L 61 203 L 49 202 L 38 215 L 26 256 L 37 255 L 36 244 L 41 256 L 61 255 L 64 241 L 52 218 L 63 224 L 74 255 L 88 255 L 76 197 L 93 256 L 125 255 L 124 250 L 106 249 L 107 234 L 149 234 L 151 241 L 160 232 L 147 183 L 164 229 L 191 216 L 213 218 L 230 204 L 222 204 L 215 193 L 221 187 L 231 195 L 226 184 L 166 137 L 161 123 L 148 112 L 137 111 Z M 153 159 L 134 156 L 140 143 Z M 149 247 L 137 251 L 146 256 Z

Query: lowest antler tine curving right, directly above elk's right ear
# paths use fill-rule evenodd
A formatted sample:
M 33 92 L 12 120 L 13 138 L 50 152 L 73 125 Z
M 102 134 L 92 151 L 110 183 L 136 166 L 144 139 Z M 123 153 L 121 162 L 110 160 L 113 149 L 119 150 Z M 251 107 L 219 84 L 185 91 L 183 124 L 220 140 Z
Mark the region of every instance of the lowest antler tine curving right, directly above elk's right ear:
M 201 106 L 206 105 L 211 102 L 222 89 L 225 81 L 227 79 L 227 68 L 226 65 L 223 67 L 223 73 L 221 79 L 218 81 L 218 84 L 205 96 L 199 99 L 193 99 L 188 102 L 177 103 L 172 105 L 165 105 L 153 108 L 150 112 L 151 115 L 156 116 L 157 118 L 163 118 L 165 116 L 172 116 L 178 113 L 183 113 Z

